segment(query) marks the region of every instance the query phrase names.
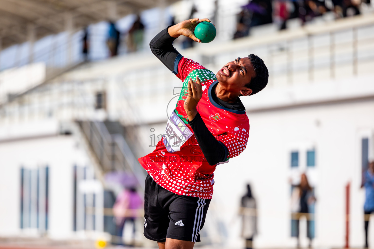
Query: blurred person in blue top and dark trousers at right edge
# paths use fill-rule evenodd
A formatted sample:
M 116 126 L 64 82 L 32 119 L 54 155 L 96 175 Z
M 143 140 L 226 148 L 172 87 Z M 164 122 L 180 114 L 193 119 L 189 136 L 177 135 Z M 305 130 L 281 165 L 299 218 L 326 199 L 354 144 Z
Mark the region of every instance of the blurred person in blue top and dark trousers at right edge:
M 374 161 L 369 163 L 368 169 L 362 174 L 361 187 L 365 187 L 364 221 L 365 248 L 368 248 L 368 227 L 370 214 L 374 212 Z

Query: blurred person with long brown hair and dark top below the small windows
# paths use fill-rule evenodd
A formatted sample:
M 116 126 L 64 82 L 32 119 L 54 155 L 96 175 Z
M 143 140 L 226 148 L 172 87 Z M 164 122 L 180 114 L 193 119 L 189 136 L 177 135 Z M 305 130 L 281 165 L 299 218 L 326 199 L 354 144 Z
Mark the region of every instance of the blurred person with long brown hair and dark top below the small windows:
M 291 195 L 291 236 L 297 237 L 297 247 L 300 248 L 299 223 L 300 218 L 305 216 L 307 219 L 307 237 L 309 238 L 309 247 L 312 246 L 313 231 L 311 229 L 312 221 L 314 221 L 313 213 L 310 212 L 316 198 L 314 197 L 312 187 L 310 187 L 306 174 L 301 174 L 300 184 L 292 185 Z M 313 224 L 314 225 L 314 224 Z

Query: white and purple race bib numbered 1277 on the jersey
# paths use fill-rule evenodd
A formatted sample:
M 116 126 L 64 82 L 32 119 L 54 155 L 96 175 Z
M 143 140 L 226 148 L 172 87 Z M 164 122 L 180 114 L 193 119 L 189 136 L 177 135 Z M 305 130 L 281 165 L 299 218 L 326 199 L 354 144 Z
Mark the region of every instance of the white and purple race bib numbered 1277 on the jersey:
M 173 111 L 166 124 L 165 133 L 162 136 L 162 141 L 165 144 L 168 152 L 174 153 L 180 151 L 182 145 L 193 135 L 187 125 L 180 117 Z

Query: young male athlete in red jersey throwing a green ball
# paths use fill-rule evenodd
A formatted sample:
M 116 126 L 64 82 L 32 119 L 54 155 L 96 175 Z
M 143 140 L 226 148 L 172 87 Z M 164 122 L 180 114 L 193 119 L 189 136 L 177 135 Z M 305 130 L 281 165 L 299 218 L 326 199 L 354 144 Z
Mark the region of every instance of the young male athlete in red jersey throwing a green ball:
M 216 75 L 181 56 L 172 42 L 180 35 L 200 42 L 194 28 L 203 21 L 210 22 L 194 18 L 169 26 L 150 42 L 154 55 L 183 81 L 162 140 L 139 159 L 148 172 L 144 236 L 160 249 L 193 248 L 200 241 L 215 167 L 238 156 L 248 140 L 249 121 L 239 96 L 258 93 L 269 78 L 263 60 L 253 54 L 235 58 Z

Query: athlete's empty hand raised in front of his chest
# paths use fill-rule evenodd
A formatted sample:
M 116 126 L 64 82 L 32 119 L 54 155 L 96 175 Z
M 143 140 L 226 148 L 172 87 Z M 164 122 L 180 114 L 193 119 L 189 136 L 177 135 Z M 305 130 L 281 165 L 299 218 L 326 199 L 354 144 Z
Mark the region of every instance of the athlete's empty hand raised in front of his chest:
M 196 76 L 196 82 L 190 78 L 188 81 L 188 95 L 184 101 L 184 111 L 187 113 L 189 121 L 192 121 L 197 114 L 197 103 L 203 96 L 203 90 L 201 87 L 200 79 Z

